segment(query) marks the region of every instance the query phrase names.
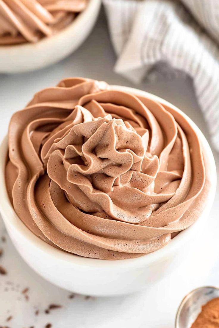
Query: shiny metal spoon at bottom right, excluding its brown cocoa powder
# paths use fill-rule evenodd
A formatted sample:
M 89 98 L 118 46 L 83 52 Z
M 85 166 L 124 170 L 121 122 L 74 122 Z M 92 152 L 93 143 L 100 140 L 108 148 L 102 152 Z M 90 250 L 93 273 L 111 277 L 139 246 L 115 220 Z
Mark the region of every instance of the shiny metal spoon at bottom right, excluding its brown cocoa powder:
M 190 328 L 205 305 L 212 298 L 219 297 L 219 288 L 200 287 L 184 297 L 176 314 L 175 328 Z

